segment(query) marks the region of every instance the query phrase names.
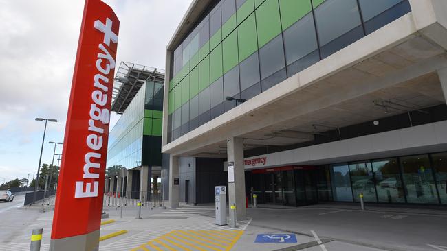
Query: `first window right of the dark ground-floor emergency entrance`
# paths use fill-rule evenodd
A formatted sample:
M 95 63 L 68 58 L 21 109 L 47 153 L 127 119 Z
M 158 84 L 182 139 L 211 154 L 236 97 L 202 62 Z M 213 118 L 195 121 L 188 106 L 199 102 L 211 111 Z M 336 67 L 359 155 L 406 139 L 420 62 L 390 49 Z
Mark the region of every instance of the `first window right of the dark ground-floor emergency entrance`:
M 347 164 L 331 166 L 331 184 L 336 202 L 352 202 L 351 178 Z

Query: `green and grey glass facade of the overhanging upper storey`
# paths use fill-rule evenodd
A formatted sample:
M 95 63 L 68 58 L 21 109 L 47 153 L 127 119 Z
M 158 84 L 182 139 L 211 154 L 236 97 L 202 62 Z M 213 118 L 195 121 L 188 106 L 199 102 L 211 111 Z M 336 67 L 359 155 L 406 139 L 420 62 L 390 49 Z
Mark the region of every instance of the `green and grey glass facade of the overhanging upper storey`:
M 215 1 L 171 55 L 168 142 L 410 11 L 408 0 Z

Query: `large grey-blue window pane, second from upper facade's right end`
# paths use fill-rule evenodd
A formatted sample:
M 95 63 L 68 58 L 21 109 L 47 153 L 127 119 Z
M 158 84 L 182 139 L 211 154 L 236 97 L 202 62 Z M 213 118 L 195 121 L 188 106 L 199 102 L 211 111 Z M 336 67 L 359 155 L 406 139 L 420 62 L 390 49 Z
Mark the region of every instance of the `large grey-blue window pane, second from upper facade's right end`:
M 323 58 L 364 36 L 356 0 L 326 0 L 315 19 Z

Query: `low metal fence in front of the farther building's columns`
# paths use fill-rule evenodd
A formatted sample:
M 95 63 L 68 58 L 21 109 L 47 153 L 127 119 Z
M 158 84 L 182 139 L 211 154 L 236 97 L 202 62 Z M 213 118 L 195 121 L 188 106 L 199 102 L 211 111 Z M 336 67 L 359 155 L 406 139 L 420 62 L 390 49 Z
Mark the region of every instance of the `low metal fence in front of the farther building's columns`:
M 103 205 L 137 206 L 139 201 L 141 201 L 141 206 L 163 206 L 162 193 L 148 193 L 140 191 L 127 192 L 124 193 L 124 196 L 121 196 L 120 193 L 105 193 Z

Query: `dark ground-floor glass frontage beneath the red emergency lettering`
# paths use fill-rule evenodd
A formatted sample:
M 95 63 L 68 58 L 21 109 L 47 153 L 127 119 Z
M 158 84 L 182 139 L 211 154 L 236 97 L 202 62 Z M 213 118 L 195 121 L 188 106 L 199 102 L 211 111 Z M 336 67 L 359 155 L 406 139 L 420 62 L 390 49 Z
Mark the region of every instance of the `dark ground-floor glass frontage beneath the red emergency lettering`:
M 447 152 L 257 169 L 249 177 L 260 204 L 360 202 L 360 194 L 369 203 L 447 204 Z

